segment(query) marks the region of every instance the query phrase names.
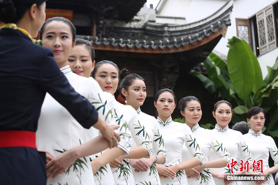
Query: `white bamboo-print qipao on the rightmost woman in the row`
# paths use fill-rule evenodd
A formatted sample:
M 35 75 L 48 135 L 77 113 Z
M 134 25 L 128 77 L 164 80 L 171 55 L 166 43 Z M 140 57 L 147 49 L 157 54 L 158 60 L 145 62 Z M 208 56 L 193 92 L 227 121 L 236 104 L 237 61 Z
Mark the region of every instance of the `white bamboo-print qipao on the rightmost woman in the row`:
M 263 160 L 263 170 L 269 168 L 268 159 L 269 153 L 274 161 L 274 165 L 278 165 L 278 150 L 277 146 L 270 136 L 262 134 L 261 130 L 256 134 L 253 130 L 249 129 L 247 134 L 243 135 L 244 141 L 248 144 L 254 160 Z M 252 164 L 252 163 L 251 163 Z M 252 170 L 250 170 L 252 171 Z M 259 172 L 258 172 L 259 173 Z M 274 179 L 271 174 L 266 177 L 267 182 L 264 185 L 274 185 Z M 242 182 L 242 185 L 249 185 L 252 182 Z

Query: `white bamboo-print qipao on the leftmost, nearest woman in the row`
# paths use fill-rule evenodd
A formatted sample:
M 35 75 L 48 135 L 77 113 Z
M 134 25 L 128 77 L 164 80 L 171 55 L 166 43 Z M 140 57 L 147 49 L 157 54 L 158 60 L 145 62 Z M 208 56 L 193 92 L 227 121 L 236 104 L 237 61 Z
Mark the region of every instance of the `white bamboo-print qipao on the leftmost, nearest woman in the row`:
M 91 79 L 72 73 L 70 66 L 61 68 L 61 71 L 75 91 L 90 101 L 94 96 L 92 92 L 96 91 Z M 86 141 L 86 132 L 88 129 L 84 129 L 66 108 L 46 93 L 36 132 L 38 150 L 48 151 L 56 157 L 72 147 L 83 144 Z M 47 179 L 47 185 L 94 185 L 92 173 L 89 157 L 79 158 L 67 169 L 66 173 L 54 179 Z

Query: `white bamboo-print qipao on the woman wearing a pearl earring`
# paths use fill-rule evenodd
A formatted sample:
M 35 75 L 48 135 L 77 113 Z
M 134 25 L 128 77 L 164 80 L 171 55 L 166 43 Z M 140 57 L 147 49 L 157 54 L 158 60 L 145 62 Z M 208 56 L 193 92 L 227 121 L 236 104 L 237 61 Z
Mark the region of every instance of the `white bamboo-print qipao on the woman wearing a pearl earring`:
M 153 142 L 153 155 L 164 155 L 165 159 L 167 159 L 167 154 L 164 147 L 164 140 L 159 131 L 159 124 L 157 123 L 155 117 L 143 113 L 140 107 L 136 111 L 140 117 L 140 120 L 143 121 L 145 125 L 145 129 L 148 132 L 150 140 Z M 159 174 L 155 165 L 152 165 L 147 172 L 135 173 L 134 168 L 132 168 L 132 173 L 134 176 L 135 184 L 161 185 Z

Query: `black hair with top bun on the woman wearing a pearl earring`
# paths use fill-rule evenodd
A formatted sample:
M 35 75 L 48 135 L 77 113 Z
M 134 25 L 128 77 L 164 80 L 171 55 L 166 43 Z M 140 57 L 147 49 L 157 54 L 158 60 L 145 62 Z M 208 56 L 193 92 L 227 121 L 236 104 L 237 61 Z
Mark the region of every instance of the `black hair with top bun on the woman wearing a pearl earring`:
M 131 73 L 129 70 L 127 69 L 122 69 L 120 72 L 120 79 L 121 79 L 121 83 L 120 83 L 120 95 L 122 96 L 122 98 L 125 99 L 125 96 L 122 94 L 122 89 L 124 88 L 125 90 L 128 89 L 128 87 L 132 84 L 132 82 L 135 79 L 140 79 L 144 82 L 144 79 L 136 74 L 136 73 Z

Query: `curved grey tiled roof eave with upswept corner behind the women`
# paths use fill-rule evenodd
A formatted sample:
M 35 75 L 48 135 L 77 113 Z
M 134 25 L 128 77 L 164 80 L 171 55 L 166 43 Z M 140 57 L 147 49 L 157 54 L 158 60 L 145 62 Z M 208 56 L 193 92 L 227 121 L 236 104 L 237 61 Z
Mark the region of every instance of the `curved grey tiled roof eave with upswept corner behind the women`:
M 214 14 L 197 22 L 184 25 L 161 24 L 147 22 L 141 28 L 114 27 L 104 37 L 78 35 L 79 38 L 90 40 L 94 47 L 122 48 L 126 51 L 148 50 L 152 53 L 159 53 L 159 50 L 178 52 L 190 50 L 189 46 L 200 46 L 209 42 L 219 35 L 224 35 L 227 26 L 231 25 L 230 14 L 232 12 L 233 0 L 227 1 Z M 186 49 L 188 48 L 188 49 Z M 193 47 L 194 48 L 194 47 Z M 182 51 L 182 50 L 179 50 Z

